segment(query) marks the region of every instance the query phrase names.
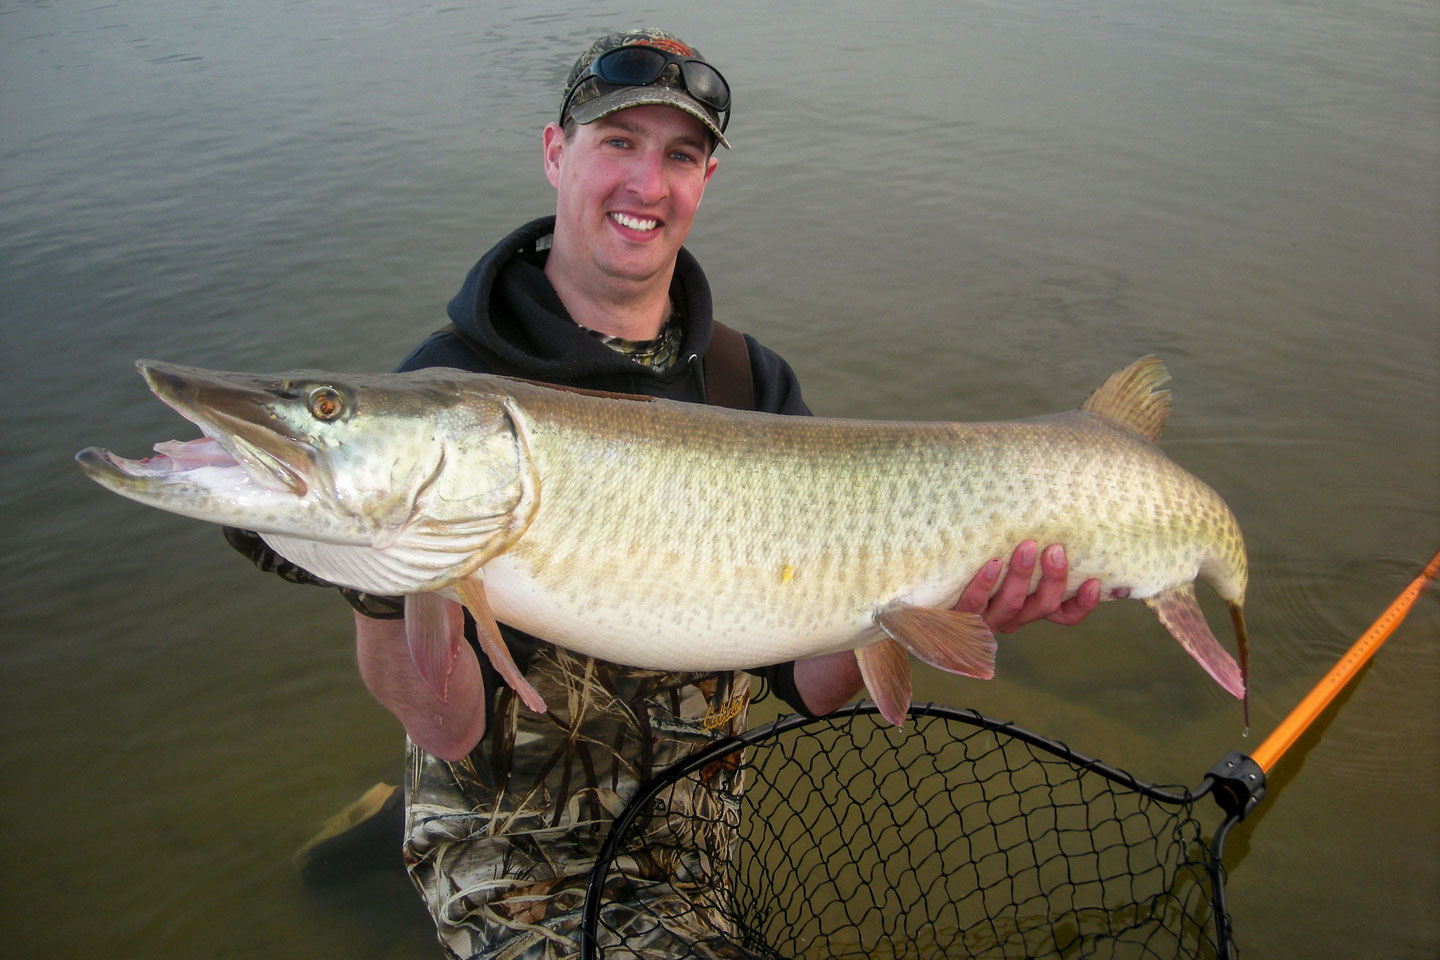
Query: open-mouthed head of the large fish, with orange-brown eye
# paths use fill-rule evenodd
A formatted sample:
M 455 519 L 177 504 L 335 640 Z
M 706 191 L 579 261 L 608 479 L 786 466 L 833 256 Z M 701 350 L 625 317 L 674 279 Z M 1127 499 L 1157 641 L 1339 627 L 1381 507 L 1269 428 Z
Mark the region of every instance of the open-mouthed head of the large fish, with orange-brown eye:
M 464 543 L 446 551 L 462 554 L 514 527 L 517 510 L 534 499 L 505 397 L 477 396 L 455 371 L 251 374 L 153 360 L 137 367 L 204 435 L 160 443 L 157 456 L 140 461 L 99 448 L 76 455 L 92 479 L 143 504 L 380 551 L 461 530 Z

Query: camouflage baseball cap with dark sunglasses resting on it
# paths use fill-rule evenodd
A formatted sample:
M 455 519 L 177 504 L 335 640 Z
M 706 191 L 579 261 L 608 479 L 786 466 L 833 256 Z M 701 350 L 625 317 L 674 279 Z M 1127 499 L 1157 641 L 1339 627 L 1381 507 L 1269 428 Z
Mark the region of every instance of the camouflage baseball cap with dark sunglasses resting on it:
M 668 55 L 667 63 L 644 82 L 608 82 L 592 68 L 595 60 L 622 47 L 654 47 Z M 592 43 L 570 68 L 560 101 L 560 122 L 573 117 L 577 124 L 592 124 L 626 107 L 660 104 L 677 107 L 714 134 L 729 150 L 724 128 L 730 121 L 730 86 L 720 71 L 710 66 L 700 50 L 672 33 L 655 27 L 608 33 Z

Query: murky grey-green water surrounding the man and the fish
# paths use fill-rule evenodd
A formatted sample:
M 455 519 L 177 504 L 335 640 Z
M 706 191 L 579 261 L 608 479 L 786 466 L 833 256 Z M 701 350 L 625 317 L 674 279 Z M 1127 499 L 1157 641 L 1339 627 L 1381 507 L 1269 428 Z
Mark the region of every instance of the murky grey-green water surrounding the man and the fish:
M 1139 604 L 922 698 L 1194 783 L 1440 547 L 1431 3 L 0 0 L 7 956 L 438 956 L 403 881 L 289 865 L 399 776 L 347 607 L 71 456 L 192 436 L 135 357 L 389 368 L 552 209 L 564 71 L 636 22 L 736 88 L 691 249 L 816 412 L 1038 413 L 1159 353 L 1246 528 L 1251 740 Z M 1247 956 L 1440 950 L 1437 638 L 1431 594 L 1231 842 Z

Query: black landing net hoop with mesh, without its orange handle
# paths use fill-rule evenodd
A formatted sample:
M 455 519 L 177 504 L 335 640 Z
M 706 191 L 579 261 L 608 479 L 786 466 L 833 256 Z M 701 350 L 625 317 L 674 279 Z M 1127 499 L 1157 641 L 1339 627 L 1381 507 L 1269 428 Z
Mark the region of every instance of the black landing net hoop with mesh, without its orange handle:
M 590 874 L 582 957 L 1233 957 L 1224 838 L 975 711 L 786 717 L 647 783 Z M 1218 796 L 1218 794 L 1217 794 Z

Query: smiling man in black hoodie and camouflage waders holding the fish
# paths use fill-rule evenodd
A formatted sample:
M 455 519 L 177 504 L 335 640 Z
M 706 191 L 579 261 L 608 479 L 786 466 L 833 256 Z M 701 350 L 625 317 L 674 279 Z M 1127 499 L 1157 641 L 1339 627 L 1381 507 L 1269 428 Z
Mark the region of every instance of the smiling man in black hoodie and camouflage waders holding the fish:
M 714 151 L 729 148 L 729 117 L 723 76 L 680 39 L 648 29 L 595 42 L 570 71 L 559 122 L 543 134 L 554 217 L 491 249 L 451 301 L 452 325 L 400 368 L 461 367 L 688 402 L 713 402 L 707 394 L 720 386 L 746 381 L 747 406 L 808 415 L 780 357 L 714 324 L 704 273 L 683 248 Z M 978 571 L 958 606 L 996 632 L 1044 617 L 1074 623 L 1097 603 L 1099 584 L 1063 603 L 1064 581 L 1063 551 L 1025 543 L 1008 573 L 999 558 Z M 406 864 L 441 943 L 455 957 L 573 956 L 585 878 L 611 819 L 654 770 L 744 728 L 747 675 L 624 668 L 503 625 L 550 711 L 527 711 L 472 653 L 439 701 L 410 664 L 403 623 L 374 619 L 376 599 L 351 602 L 364 682 L 410 738 Z M 835 710 L 861 687 L 850 652 L 756 672 L 809 714 Z M 651 879 L 657 898 L 687 895 L 675 877 Z M 651 936 L 648 954 L 672 953 L 672 933 Z

